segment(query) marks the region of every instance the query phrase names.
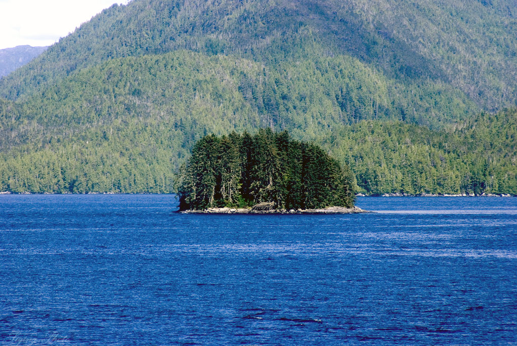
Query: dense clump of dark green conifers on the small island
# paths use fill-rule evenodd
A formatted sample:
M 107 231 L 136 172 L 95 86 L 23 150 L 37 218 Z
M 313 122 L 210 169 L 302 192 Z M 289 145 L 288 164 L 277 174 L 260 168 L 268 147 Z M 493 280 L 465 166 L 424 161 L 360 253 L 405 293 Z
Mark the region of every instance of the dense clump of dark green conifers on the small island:
M 242 208 L 262 202 L 275 209 L 352 208 L 352 181 L 347 165 L 286 131 L 208 135 L 194 145 L 181 174 L 179 208 Z

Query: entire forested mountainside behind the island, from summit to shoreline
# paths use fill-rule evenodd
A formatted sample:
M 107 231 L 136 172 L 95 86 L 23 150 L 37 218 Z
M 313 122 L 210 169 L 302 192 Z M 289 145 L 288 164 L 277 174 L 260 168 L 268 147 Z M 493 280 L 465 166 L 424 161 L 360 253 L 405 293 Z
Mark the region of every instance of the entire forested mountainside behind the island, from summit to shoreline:
M 113 5 L 0 80 L 0 190 L 170 192 L 204 135 L 288 129 L 360 189 L 515 187 L 517 4 Z

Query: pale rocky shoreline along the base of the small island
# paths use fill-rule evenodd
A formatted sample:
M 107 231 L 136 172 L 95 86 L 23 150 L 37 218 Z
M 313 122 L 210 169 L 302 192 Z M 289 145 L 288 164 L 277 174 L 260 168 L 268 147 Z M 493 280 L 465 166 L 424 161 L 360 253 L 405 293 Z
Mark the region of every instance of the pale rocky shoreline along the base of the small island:
M 253 206 L 254 208 L 255 206 Z M 361 208 L 328 207 L 325 209 L 269 209 L 257 210 L 253 208 L 208 208 L 206 210 L 184 210 L 183 214 L 357 214 L 371 213 Z M 262 208 L 262 207 L 261 207 Z

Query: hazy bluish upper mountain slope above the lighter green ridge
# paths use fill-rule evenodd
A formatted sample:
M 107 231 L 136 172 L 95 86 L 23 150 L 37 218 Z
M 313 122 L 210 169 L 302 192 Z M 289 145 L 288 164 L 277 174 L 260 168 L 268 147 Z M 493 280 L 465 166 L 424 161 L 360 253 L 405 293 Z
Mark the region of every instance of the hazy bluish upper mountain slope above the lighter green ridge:
M 413 89 L 450 85 L 494 110 L 517 100 L 516 13 L 466 0 L 136 0 L 83 24 L 0 83 L 0 95 L 14 100 L 111 58 L 188 49 L 262 62 L 351 56 Z

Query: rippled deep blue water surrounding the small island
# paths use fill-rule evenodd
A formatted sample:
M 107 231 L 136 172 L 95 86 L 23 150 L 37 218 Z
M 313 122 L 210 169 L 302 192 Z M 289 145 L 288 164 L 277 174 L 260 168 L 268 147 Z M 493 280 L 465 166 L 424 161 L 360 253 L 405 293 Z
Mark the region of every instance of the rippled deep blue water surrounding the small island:
M 516 345 L 517 198 L 185 215 L 0 196 L 1 345 Z

